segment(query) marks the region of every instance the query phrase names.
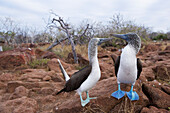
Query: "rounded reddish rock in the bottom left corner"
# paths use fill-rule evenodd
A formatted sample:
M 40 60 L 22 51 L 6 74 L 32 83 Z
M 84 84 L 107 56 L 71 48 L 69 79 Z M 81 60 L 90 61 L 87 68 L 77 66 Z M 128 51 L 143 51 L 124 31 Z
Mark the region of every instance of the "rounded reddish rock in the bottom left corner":
M 37 110 L 37 101 L 27 97 L 0 102 L 0 113 L 36 113 Z

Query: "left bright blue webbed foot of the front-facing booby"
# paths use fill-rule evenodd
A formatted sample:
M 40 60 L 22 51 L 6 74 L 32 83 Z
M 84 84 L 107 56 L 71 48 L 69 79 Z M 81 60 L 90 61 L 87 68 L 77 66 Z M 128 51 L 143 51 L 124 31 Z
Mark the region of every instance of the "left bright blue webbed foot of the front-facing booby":
M 120 89 L 120 84 L 118 84 L 118 90 L 115 91 L 115 92 L 113 92 L 113 93 L 111 94 L 111 96 L 113 96 L 113 97 L 115 97 L 115 98 L 117 98 L 117 99 L 120 99 L 120 98 L 122 98 L 123 96 L 125 96 L 125 91 L 122 91 L 122 90 Z

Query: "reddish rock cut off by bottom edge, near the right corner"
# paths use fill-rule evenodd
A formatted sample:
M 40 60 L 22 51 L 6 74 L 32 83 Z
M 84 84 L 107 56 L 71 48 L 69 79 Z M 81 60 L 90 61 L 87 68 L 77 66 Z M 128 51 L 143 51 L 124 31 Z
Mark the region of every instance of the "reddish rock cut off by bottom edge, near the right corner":
M 149 106 L 149 108 L 144 107 L 141 113 L 168 113 L 168 111 L 165 109 L 158 109 L 154 106 Z

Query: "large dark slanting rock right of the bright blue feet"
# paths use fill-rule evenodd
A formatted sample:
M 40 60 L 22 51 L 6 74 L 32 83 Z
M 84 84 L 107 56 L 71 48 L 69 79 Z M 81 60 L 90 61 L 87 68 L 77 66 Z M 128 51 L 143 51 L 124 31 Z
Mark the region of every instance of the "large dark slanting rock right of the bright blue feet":
M 158 88 L 149 86 L 146 83 L 142 85 L 142 90 L 150 99 L 152 104 L 156 105 L 158 108 L 168 109 L 170 105 L 170 95 L 166 94 Z

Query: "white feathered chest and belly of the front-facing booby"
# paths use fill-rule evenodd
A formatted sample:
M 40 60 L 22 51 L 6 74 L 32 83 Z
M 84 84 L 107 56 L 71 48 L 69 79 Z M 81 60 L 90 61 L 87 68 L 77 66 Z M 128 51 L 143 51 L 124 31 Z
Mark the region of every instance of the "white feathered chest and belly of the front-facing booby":
M 135 50 L 130 45 L 122 51 L 117 78 L 120 83 L 135 83 L 136 81 L 137 59 Z

